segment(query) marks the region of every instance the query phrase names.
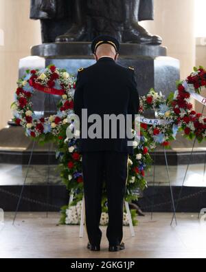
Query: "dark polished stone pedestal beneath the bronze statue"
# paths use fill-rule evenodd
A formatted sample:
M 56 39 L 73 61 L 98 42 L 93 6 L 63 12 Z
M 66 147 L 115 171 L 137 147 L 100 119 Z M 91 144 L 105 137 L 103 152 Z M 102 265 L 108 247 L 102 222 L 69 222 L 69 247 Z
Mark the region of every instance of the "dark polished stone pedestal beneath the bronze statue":
M 177 59 L 166 55 L 166 48 L 161 46 L 122 44 L 118 63 L 135 68 L 141 95 L 149 92 L 150 88 L 168 95 L 176 90 L 180 68 Z M 95 63 L 91 53 L 91 44 L 84 42 L 36 45 L 32 48 L 32 56 L 43 58 L 45 66 L 53 63 L 57 67 L 67 68 L 71 74 L 76 74 L 80 67 L 87 67 Z M 28 68 L 23 67 L 22 62 L 24 61 L 20 61 L 21 71 Z

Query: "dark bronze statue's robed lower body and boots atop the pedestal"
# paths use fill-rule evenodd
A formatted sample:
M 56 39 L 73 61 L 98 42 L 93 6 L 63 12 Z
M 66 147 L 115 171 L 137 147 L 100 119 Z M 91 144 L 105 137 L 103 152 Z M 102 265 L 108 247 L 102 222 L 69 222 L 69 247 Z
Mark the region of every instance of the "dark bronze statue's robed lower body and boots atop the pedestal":
M 154 0 L 31 0 L 31 19 L 41 19 L 43 43 L 91 41 L 100 34 L 123 43 L 160 45 L 139 21 L 152 20 Z

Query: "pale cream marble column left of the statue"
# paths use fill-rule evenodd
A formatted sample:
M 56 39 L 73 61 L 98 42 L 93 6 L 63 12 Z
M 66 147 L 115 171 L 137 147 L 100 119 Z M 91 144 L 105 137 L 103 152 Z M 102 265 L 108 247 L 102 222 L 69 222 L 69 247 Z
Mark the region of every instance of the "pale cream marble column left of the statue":
M 30 1 L 0 0 L 0 129 L 11 118 L 10 104 L 19 72 L 19 59 L 30 55 L 30 47 L 41 43 L 40 24 L 29 18 Z M 0 38 L 1 39 L 1 38 Z

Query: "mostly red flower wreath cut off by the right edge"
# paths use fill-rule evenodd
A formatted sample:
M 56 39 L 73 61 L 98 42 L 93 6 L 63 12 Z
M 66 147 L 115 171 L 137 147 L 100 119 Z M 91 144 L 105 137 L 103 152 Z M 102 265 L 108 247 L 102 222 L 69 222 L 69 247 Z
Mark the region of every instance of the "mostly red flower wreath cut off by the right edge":
M 206 104 L 206 99 L 200 95 L 202 87 L 206 87 L 206 70 L 203 67 L 199 69 L 194 67 L 194 72 L 185 81 L 178 83 L 177 87 L 172 102 L 176 123 L 186 138 L 196 137 L 198 142 L 201 142 L 206 137 L 206 118 L 194 111 L 191 98 L 195 98 L 203 105 Z

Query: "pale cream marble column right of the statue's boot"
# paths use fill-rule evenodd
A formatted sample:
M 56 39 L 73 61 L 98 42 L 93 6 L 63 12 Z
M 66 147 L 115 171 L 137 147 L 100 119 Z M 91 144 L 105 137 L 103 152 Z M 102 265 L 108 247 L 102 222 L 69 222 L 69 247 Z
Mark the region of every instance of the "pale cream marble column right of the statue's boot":
M 141 23 L 163 38 L 168 56 L 181 61 L 181 79 L 195 65 L 194 0 L 155 0 L 155 21 Z

